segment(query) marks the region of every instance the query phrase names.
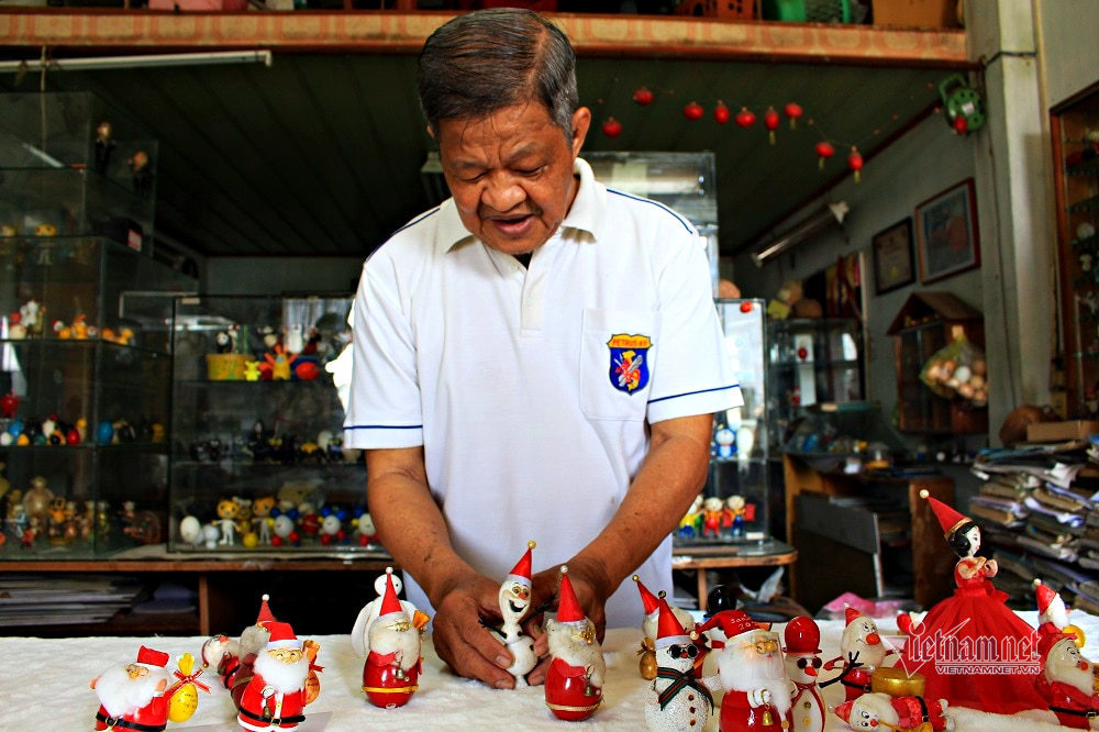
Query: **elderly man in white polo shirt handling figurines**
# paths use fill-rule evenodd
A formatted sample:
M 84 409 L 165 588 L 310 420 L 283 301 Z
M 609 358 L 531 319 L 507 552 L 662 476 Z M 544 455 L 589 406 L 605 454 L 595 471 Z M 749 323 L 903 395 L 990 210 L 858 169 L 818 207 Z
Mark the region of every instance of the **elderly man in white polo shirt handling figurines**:
M 693 228 L 578 157 L 591 112 L 556 26 L 459 15 L 428 38 L 418 81 L 452 198 L 364 265 L 345 444 L 367 448 L 370 514 L 410 599 L 434 609 L 440 656 L 511 688 L 482 624 L 500 622 L 508 558 L 535 537 L 535 606 L 567 563 L 600 634 L 636 625 L 618 587 L 670 587 L 711 415 L 741 397 Z

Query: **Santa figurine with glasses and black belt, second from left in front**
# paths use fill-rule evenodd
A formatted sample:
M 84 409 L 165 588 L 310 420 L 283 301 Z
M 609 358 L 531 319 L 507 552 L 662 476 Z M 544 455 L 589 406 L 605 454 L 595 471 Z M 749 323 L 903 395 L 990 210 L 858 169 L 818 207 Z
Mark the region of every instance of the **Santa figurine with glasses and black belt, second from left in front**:
M 292 730 L 306 719 L 309 656 L 290 623 L 276 620 L 267 628 L 270 637 L 256 654 L 253 676 L 246 680 L 238 676 L 233 687 L 236 722 L 253 732 Z

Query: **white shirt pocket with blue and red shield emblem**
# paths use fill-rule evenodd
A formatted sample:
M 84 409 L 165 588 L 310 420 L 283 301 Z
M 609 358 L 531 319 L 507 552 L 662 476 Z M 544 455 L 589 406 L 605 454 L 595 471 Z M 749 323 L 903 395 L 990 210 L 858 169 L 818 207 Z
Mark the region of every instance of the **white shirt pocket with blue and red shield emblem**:
M 654 310 L 584 311 L 580 409 L 588 419 L 645 419 L 658 330 L 659 313 Z

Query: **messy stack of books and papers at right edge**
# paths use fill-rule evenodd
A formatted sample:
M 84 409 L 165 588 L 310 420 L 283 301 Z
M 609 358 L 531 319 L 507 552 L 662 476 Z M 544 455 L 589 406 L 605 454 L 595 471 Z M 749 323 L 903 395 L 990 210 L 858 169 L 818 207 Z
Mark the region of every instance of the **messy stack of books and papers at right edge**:
M 1000 566 L 992 583 L 1018 609 L 1032 609 L 1042 579 L 1074 607 L 1099 611 L 1099 446 L 1073 440 L 984 450 L 968 514 Z M 987 552 L 986 552 L 987 553 Z

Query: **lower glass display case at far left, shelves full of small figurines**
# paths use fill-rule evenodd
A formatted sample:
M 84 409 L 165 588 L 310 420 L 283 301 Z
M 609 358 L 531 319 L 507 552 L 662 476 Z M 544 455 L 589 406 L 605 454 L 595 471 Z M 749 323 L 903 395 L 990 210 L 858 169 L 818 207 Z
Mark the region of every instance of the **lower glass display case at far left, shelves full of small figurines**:
M 166 306 L 193 280 L 100 237 L 0 239 L 0 556 L 163 542 Z

